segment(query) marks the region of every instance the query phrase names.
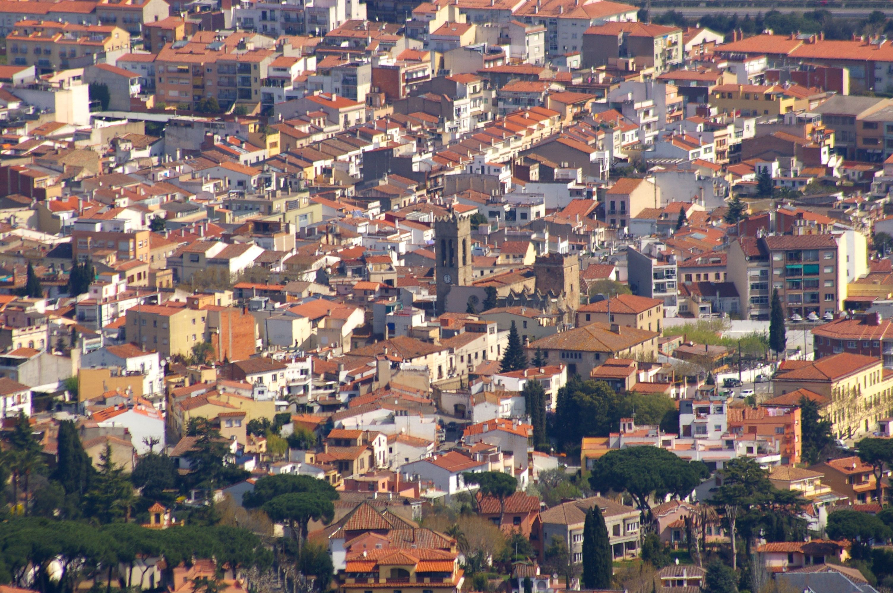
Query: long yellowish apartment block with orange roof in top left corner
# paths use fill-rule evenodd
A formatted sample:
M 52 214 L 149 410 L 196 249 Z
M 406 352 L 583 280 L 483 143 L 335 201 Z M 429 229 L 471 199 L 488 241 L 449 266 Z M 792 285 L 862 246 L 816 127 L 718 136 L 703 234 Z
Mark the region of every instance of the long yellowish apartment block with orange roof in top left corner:
M 13 65 L 34 66 L 38 74 L 49 74 L 94 64 L 106 54 L 127 54 L 130 34 L 113 25 L 19 21 L 6 36 L 6 47 Z

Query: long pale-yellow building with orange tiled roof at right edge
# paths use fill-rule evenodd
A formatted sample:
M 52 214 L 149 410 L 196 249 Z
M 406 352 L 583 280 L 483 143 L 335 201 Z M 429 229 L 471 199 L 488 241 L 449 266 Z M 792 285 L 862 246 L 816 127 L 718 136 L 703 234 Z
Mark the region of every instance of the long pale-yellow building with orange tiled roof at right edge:
M 841 439 L 871 435 L 878 420 L 893 411 L 893 375 L 885 373 L 880 358 L 861 354 L 843 352 L 815 361 L 782 362 L 772 386 L 776 397 L 763 406 L 789 405 L 781 396 L 800 391 L 819 402 L 822 416 L 830 419 Z

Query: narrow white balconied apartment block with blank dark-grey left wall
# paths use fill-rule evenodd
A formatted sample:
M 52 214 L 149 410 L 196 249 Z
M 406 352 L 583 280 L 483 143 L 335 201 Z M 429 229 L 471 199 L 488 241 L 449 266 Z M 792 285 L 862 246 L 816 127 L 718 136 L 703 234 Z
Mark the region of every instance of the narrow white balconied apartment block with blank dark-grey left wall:
M 640 250 L 627 250 L 629 282 L 633 294 L 663 301 L 666 317 L 679 314 L 676 256 L 663 243 L 642 243 Z

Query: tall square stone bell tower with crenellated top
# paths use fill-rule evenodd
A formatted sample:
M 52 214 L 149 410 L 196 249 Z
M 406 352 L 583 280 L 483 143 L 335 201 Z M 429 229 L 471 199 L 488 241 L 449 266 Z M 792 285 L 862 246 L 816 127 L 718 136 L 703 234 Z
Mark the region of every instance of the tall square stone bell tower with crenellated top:
M 434 275 L 438 283 L 436 313 L 447 310 L 447 294 L 453 286 L 472 284 L 472 222 L 450 216 L 434 221 Z

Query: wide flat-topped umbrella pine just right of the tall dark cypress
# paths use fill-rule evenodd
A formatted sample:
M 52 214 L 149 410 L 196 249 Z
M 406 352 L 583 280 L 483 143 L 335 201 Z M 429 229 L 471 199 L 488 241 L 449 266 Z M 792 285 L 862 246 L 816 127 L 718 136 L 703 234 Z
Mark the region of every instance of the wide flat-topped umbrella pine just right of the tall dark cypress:
M 651 520 L 650 500 L 685 498 L 709 474 L 700 461 L 686 461 L 666 449 L 644 446 L 613 449 L 592 465 L 592 490 L 626 492 L 636 502 L 645 521 Z

